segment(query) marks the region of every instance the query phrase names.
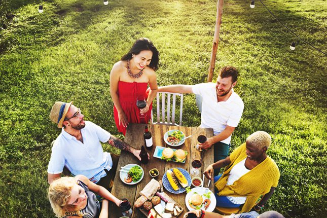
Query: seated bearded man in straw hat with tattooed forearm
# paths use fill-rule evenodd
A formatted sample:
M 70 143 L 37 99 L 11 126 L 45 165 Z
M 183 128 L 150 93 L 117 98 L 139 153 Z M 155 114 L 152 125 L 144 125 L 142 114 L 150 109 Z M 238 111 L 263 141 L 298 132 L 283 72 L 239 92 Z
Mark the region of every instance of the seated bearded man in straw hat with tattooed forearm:
M 128 151 L 141 160 L 140 150 L 130 147 L 94 123 L 84 121 L 80 108 L 72 105 L 72 101 L 55 102 L 50 112 L 50 119 L 62 129 L 53 142 L 48 165 L 49 184 L 59 178 L 63 171 L 69 170 L 71 174 L 83 174 L 97 185 L 110 189 L 118 158 L 103 152 L 100 141 Z

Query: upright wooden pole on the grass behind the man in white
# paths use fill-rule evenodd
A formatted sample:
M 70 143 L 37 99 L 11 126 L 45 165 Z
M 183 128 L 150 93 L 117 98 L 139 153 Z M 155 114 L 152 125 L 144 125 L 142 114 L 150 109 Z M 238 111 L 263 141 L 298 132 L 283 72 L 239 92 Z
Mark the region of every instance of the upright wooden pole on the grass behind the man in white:
M 224 0 L 217 1 L 217 17 L 216 17 L 216 24 L 214 27 L 213 45 L 212 45 L 212 51 L 211 51 L 211 57 L 210 57 L 210 66 L 208 69 L 207 82 L 212 81 L 214 65 L 215 65 L 215 60 L 216 60 L 216 54 L 217 54 L 217 48 L 218 48 L 218 43 L 219 43 L 219 32 L 220 32 L 220 27 L 222 25 L 223 5 L 224 5 Z

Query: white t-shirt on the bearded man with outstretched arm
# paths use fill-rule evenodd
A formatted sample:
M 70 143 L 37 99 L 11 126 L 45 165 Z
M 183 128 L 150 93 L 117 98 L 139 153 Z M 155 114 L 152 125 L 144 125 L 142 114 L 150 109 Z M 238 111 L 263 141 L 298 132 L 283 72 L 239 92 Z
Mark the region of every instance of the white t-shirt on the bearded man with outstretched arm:
M 202 96 L 201 125 L 212 128 L 213 134 L 221 133 L 226 126 L 237 127 L 243 113 L 244 103 L 234 90 L 227 101 L 217 102 L 215 83 L 201 83 L 192 86 L 192 92 Z M 230 135 L 221 142 L 229 144 Z

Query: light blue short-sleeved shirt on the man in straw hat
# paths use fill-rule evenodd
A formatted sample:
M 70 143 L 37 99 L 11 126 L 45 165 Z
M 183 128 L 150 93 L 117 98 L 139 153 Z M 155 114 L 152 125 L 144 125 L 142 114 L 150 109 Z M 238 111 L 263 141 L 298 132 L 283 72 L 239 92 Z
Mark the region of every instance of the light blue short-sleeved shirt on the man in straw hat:
M 95 182 L 106 176 L 104 169 L 110 170 L 113 160 L 110 153 L 103 152 L 100 141 L 108 141 L 111 134 L 90 121 L 85 121 L 81 133 L 83 143 L 62 128 L 52 147 L 48 173 L 61 173 L 66 166 L 72 174 L 94 177 Z

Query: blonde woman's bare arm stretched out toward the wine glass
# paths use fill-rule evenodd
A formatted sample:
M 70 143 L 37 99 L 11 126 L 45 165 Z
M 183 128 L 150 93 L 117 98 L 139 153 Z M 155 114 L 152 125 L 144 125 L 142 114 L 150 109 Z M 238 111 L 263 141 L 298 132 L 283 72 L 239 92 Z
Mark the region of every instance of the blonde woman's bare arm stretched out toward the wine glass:
M 111 194 L 108 190 L 103 188 L 102 186 L 98 186 L 92 181 L 90 181 L 85 175 L 77 175 L 75 176 L 77 180 L 83 181 L 85 185 L 94 193 L 100 195 L 101 197 L 114 202 L 117 206 L 119 206 L 120 200 L 116 198 L 113 194 Z

